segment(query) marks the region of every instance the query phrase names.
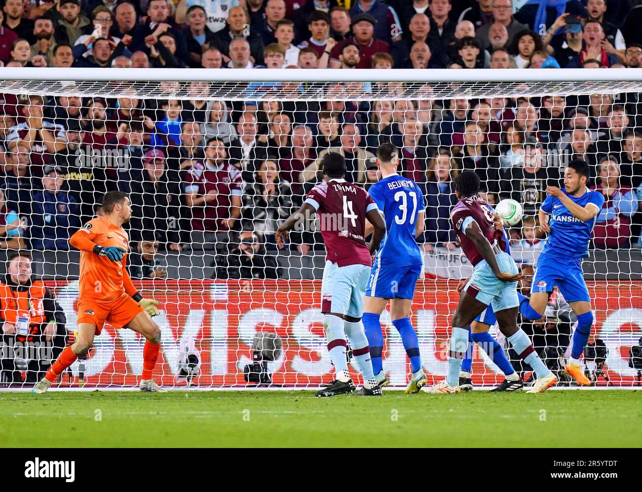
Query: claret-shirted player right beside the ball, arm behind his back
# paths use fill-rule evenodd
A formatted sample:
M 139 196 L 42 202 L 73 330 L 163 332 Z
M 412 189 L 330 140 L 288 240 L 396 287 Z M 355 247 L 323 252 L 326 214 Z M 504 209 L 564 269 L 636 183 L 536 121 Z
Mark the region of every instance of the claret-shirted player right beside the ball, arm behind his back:
M 517 271 L 514 259 L 506 252 L 506 238 L 496 228 L 492 209 L 480 198 L 479 189 L 480 178 L 473 171 L 464 171 L 455 180 L 455 195 L 459 202 L 451 211 L 451 221 L 474 270 L 453 315 L 446 379 L 422 390 L 431 393 L 460 391 L 459 373 L 469 338 L 466 327 L 492 304 L 499 330 L 537 374 L 530 392 L 546 391 L 557 382 L 557 378 L 535 353 L 528 335 L 517 328 L 517 281 L 523 276 Z

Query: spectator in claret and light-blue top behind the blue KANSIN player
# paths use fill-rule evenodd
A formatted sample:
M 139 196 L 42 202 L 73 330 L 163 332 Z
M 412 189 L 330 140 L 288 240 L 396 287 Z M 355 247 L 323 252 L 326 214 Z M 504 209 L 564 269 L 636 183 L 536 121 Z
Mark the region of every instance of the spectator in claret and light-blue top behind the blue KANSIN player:
M 631 217 L 638 211 L 638 197 L 632 188 L 620 185 L 620 164 L 616 157 L 600 159 L 598 171 L 598 179 L 591 189 L 604 195 L 604 204 L 593 228 L 593 244 L 602 249 L 629 247 Z

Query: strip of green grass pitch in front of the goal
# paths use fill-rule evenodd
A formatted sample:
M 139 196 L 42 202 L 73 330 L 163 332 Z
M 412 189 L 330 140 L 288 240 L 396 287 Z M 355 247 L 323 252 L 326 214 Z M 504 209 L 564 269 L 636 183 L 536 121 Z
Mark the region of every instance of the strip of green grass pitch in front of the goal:
M 642 391 L 0 393 L 0 445 L 639 446 Z

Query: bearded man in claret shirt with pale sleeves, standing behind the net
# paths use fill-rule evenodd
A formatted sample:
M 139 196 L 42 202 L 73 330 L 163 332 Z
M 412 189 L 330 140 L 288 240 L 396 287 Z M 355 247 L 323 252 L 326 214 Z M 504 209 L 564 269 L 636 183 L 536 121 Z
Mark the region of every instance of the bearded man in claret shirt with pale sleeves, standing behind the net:
M 228 242 L 228 231 L 241 215 L 241 172 L 227 163 L 227 150 L 216 137 L 205 144 L 205 159 L 196 163 L 184 182 L 186 204 L 191 208 L 193 243 Z M 205 233 L 218 233 L 214 238 Z M 204 246 L 205 247 L 205 246 Z

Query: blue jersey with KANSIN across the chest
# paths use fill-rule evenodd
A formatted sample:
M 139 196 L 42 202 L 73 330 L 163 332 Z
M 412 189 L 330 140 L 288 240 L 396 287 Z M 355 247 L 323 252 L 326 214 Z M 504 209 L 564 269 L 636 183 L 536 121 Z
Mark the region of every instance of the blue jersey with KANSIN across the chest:
M 566 191 L 562 192 L 580 207 L 593 204 L 598 210 L 602 210 L 604 196 L 597 191 L 586 191 L 579 198 L 571 197 Z M 562 200 L 548 196 L 542 204 L 542 210 L 550 214 L 548 224 L 551 232 L 544 243 L 544 253 L 559 253 L 566 255 L 566 258 L 586 258 L 589 256 L 589 242 L 591 231 L 597 220 L 594 216 L 591 220 L 582 222 L 568 211 Z

